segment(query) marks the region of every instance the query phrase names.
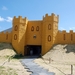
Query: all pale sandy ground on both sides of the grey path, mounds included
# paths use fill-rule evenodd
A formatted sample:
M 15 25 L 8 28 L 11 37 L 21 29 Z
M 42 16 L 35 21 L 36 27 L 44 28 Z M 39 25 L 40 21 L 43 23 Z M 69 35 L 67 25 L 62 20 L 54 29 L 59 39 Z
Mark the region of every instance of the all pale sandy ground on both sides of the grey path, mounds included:
M 10 44 L 0 43 L 0 75 L 29 75 L 27 69 L 20 63 L 20 59 L 9 57 L 15 55 Z M 75 45 L 55 45 L 42 58 L 34 60 L 55 75 L 71 74 L 71 65 L 73 65 L 73 75 L 75 75 Z

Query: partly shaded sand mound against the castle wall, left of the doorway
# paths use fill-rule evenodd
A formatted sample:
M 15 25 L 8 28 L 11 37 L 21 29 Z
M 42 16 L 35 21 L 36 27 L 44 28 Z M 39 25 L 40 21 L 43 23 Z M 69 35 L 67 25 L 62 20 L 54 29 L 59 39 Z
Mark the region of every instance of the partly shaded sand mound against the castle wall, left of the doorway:
M 15 55 L 13 47 L 9 43 L 0 43 L 0 56 L 12 56 Z

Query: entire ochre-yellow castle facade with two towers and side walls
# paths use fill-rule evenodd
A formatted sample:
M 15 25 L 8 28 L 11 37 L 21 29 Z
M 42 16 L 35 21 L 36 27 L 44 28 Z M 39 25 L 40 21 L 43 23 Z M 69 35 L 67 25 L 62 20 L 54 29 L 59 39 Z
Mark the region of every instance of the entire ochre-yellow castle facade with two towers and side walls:
M 54 44 L 75 44 L 75 33 L 58 30 L 59 16 L 46 14 L 42 20 L 14 17 L 12 31 L 1 32 L 0 42 L 11 43 L 18 54 L 44 55 Z

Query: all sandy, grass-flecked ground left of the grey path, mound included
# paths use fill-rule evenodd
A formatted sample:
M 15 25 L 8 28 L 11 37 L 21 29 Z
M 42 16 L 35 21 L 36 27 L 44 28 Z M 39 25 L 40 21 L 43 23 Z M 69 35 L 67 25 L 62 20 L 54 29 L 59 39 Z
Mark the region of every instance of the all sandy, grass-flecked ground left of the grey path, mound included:
M 20 59 L 9 57 L 15 55 L 10 44 L 0 43 L 0 75 L 29 75 L 27 69 L 20 63 Z

